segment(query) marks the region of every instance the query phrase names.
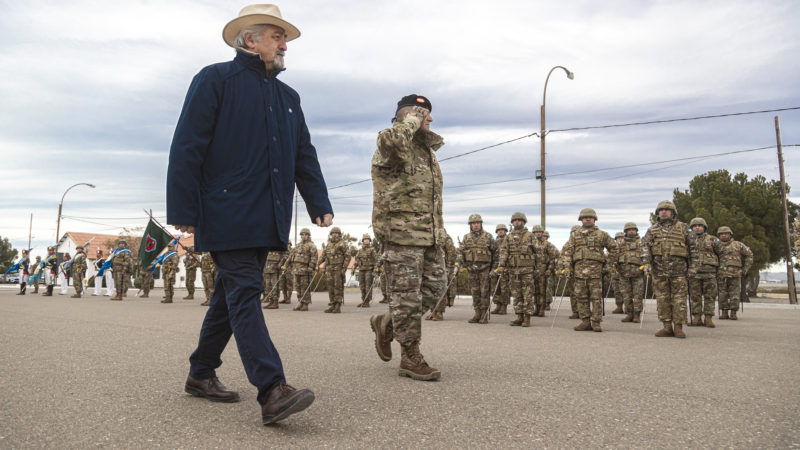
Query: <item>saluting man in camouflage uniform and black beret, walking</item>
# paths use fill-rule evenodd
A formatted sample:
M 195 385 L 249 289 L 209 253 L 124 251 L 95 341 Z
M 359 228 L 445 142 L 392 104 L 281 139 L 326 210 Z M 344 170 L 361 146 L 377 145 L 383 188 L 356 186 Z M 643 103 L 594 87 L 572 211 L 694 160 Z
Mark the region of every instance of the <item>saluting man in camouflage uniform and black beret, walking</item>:
M 427 102 L 413 97 L 420 104 Z M 372 316 L 370 324 L 382 359 L 391 359 L 393 338 L 400 343 L 400 375 L 438 379 L 439 371 L 429 367 L 419 352 L 422 316 L 441 298 L 447 279 L 442 172 L 434 153 L 444 141 L 423 127 L 427 114 L 414 106 L 378 134 L 372 157 L 372 228 L 383 245 L 381 261 L 391 299 L 390 313 Z

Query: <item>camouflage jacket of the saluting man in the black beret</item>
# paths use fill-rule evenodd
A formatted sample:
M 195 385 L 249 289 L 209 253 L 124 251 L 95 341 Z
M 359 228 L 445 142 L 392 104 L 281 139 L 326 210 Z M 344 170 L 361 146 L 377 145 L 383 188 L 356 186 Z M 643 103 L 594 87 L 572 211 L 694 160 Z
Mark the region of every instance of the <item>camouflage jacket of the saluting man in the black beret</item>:
M 419 130 L 411 114 L 378 134 L 372 157 L 372 228 L 382 243 L 444 245 L 442 171 L 435 151 L 444 141 Z

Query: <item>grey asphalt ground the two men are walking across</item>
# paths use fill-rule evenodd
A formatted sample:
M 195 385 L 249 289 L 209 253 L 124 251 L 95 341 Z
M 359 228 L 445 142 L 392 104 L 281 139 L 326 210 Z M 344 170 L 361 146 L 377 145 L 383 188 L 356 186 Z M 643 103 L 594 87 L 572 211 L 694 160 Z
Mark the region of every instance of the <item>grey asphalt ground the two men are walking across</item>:
M 531 328 L 467 324 L 471 301 L 423 324 L 422 352 L 438 382 L 397 375 L 378 359 L 368 310 L 265 311 L 290 384 L 317 400 L 274 426 L 232 341 L 220 379 L 242 401 L 183 392 L 202 299 L 111 302 L 15 296 L 0 289 L 0 448 L 787 448 L 800 446 L 800 310 L 748 305 L 738 322 L 655 338 L 606 316 L 603 333 L 572 331 L 565 300 Z M 184 292 L 178 291 L 178 296 Z M 611 303 L 607 311 L 611 311 Z M 294 305 L 292 305 L 294 306 Z M 549 313 L 549 314 L 552 314 Z

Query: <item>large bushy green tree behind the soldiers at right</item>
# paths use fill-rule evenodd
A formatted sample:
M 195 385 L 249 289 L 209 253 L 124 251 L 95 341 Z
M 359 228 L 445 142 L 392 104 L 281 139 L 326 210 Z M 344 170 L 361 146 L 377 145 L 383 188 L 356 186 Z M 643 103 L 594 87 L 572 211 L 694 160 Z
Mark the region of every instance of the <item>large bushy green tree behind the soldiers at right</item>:
M 786 189 L 788 192 L 789 187 Z M 694 177 L 688 190 L 676 188 L 672 198 L 683 222 L 702 217 L 712 234 L 723 225 L 731 227 L 734 239 L 753 251 L 748 278 L 757 277 L 759 271 L 786 254 L 779 181 L 768 181 L 761 175 L 748 179 L 744 173 L 731 176 L 727 170 L 715 170 Z M 788 207 L 789 217 L 800 212 L 795 203 L 788 202 Z

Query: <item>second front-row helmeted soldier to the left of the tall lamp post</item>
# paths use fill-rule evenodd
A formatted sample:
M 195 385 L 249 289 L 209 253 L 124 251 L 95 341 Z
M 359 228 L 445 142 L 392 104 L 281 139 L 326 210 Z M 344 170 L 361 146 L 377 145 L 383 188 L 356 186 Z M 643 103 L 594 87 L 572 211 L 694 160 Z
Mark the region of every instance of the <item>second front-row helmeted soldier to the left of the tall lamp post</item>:
M 472 308 L 475 315 L 469 323 L 488 323 L 489 274 L 497 263 L 497 243 L 483 229 L 480 214 L 472 214 L 467 220 L 470 231 L 461 240 L 461 268 L 469 274 L 469 289 L 472 293 Z

